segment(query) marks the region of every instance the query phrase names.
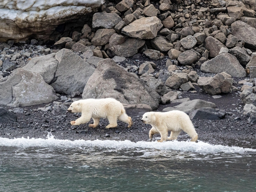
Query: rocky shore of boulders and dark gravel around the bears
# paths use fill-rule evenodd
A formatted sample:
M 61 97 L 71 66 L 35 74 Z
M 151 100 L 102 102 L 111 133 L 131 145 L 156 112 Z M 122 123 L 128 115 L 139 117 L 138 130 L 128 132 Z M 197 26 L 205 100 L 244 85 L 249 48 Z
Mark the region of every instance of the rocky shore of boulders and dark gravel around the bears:
M 181 110 L 200 141 L 256 148 L 254 1 L 99 3 L 74 27 L 45 28 L 47 38 L 32 29 L 3 38 L 1 137 L 148 140 L 143 113 Z M 79 8 L 76 22 L 87 12 Z M 79 116 L 66 111 L 73 101 L 107 97 L 124 104 L 132 128 L 70 125 Z

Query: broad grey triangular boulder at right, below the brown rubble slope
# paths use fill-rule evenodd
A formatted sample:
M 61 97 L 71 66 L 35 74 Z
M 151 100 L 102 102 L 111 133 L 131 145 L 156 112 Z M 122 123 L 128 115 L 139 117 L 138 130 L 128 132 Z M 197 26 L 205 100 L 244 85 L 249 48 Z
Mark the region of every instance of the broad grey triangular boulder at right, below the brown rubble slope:
M 246 72 L 237 58 L 230 53 L 222 53 L 204 62 L 200 68 L 206 73 L 222 73 L 226 71 L 232 77 L 246 77 Z

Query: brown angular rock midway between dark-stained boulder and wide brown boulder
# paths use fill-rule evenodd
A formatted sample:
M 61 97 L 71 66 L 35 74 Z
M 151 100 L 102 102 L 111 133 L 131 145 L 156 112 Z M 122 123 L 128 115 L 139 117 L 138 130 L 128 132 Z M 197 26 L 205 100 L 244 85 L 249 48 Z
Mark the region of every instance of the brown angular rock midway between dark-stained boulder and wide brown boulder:
M 173 73 L 173 75 L 166 80 L 165 85 L 172 89 L 179 89 L 180 85 L 187 81 L 187 73 Z

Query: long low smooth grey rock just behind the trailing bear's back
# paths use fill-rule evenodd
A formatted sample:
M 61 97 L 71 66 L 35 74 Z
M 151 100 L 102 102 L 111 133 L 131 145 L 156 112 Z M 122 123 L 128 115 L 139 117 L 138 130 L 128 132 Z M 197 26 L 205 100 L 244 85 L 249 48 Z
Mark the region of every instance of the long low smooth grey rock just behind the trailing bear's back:
M 167 108 L 163 109 L 163 111 L 179 110 L 179 111 L 185 112 L 186 114 L 189 114 L 191 110 L 199 109 L 199 108 L 203 108 L 203 107 L 216 108 L 216 105 L 212 102 L 207 102 L 207 101 L 204 101 L 204 100 L 195 99 L 195 100 L 191 100 L 191 101 L 181 103 L 181 104 L 179 104 L 175 107 L 167 107 Z

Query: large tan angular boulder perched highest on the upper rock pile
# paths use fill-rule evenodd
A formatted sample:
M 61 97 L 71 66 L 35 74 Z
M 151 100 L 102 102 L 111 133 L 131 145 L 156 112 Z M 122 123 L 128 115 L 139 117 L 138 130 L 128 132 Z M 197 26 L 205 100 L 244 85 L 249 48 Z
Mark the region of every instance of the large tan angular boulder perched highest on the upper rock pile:
M 153 39 L 162 26 L 157 17 L 143 17 L 125 26 L 122 33 L 137 39 Z

